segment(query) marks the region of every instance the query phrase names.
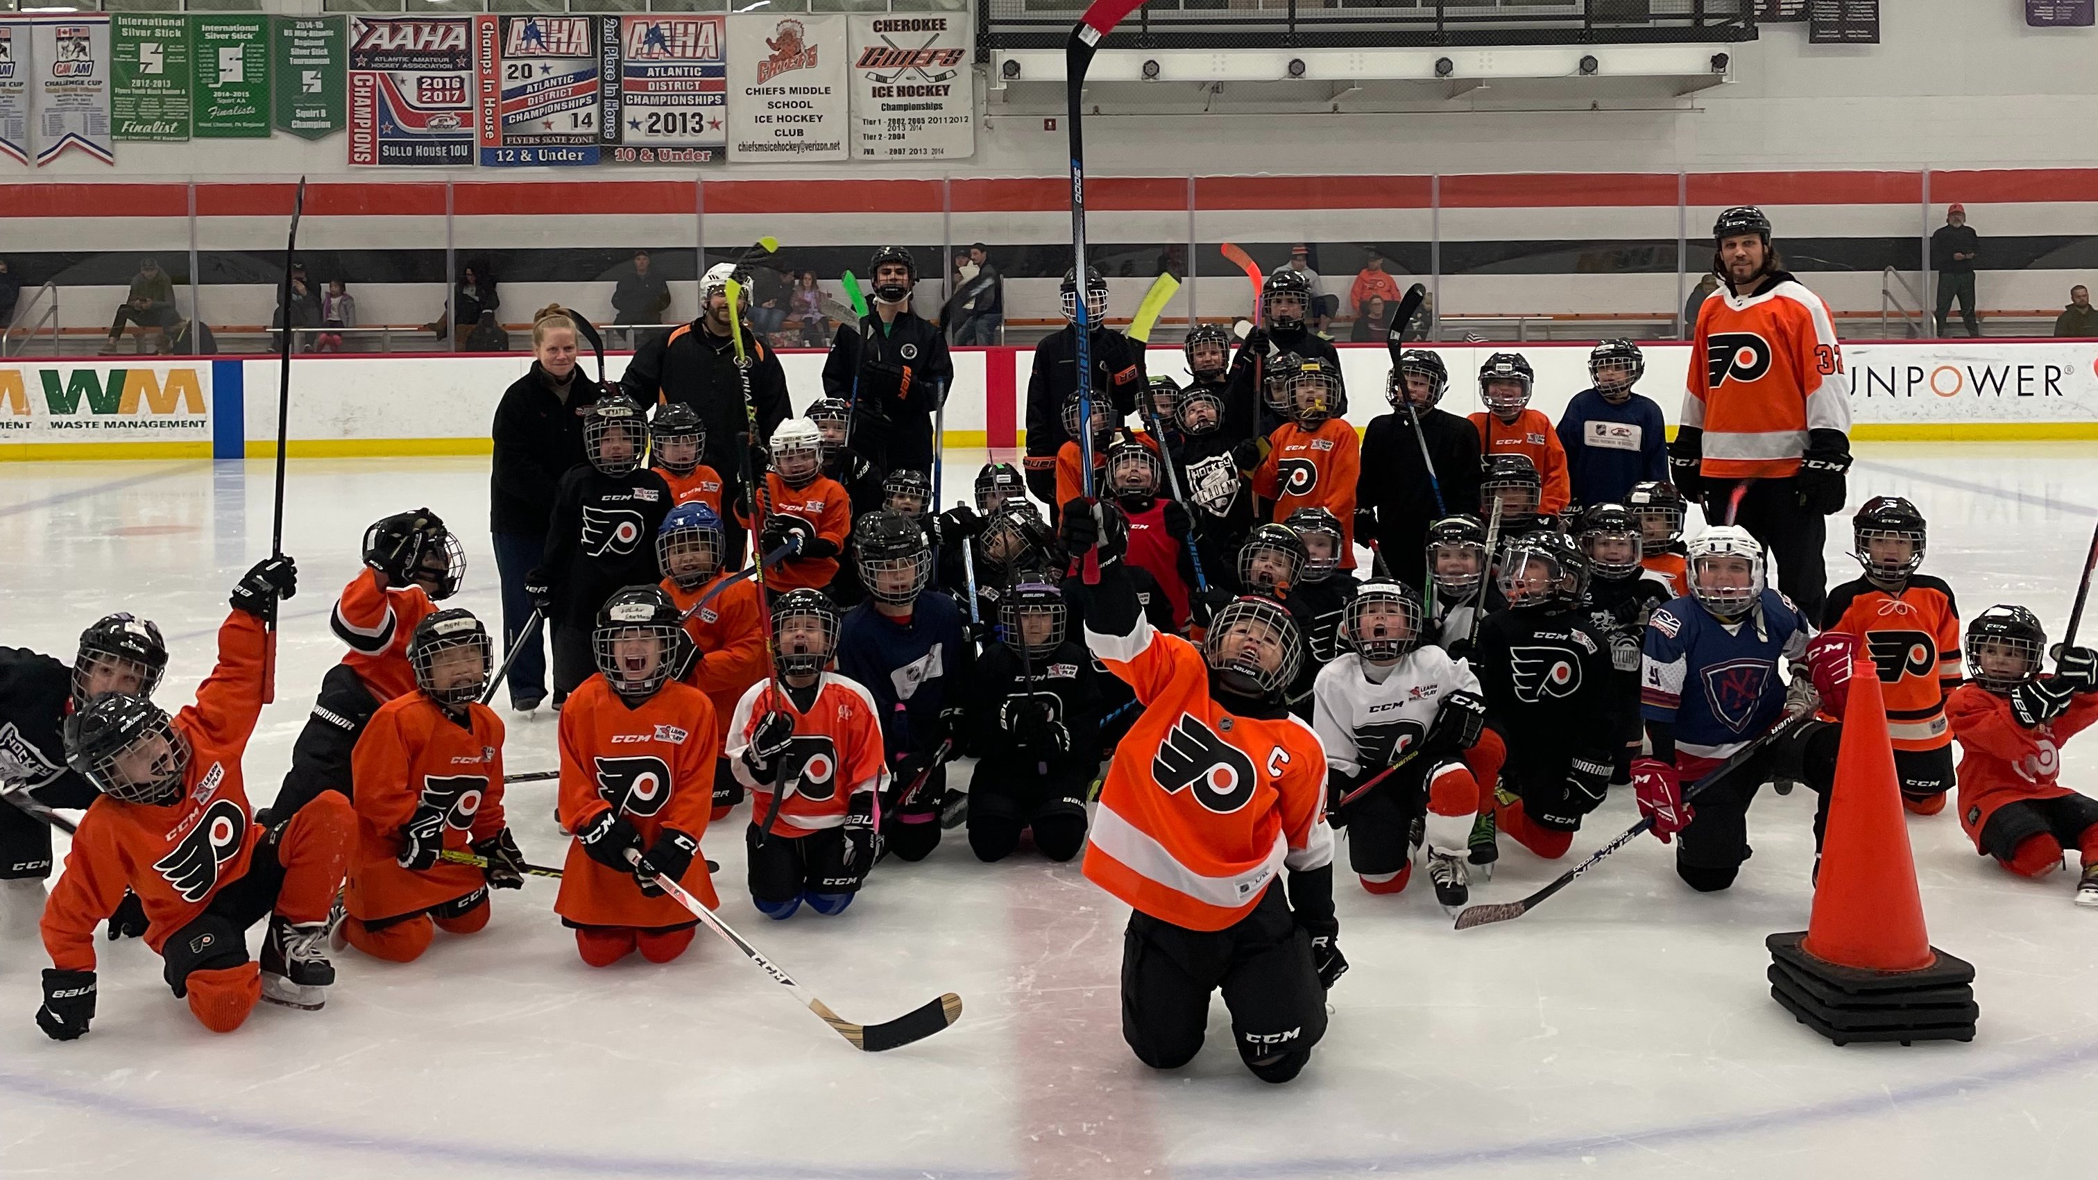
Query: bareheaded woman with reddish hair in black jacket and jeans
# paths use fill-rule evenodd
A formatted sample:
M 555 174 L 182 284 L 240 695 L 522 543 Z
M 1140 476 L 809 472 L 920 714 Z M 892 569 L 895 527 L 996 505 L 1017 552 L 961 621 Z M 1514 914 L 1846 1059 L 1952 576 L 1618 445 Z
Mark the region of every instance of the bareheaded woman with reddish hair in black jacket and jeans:
M 495 407 L 495 468 L 489 477 L 489 531 L 504 580 L 504 651 L 524 640 L 510 666 L 510 705 L 531 712 L 545 699 L 545 632 L 518 632 L 531 617 L 524 575 L 545 559 L 545 527 L 560 477 L 583 462 L 583 412 L 602 393 L 575 363 L 575 321 L 560 304 L 533 317 L 533 365 Z

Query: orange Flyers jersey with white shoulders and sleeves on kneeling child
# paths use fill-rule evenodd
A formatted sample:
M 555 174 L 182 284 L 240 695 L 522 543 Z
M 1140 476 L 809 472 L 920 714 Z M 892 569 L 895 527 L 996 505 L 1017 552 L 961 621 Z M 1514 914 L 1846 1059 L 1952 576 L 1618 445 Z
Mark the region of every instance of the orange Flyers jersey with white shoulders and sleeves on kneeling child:
M 751 731 L 774 708 L 793 716 L 793 745 L 780 756 L 780 775 L 793 777 L 793 792 L 780 802 L 772 821 L 776 836 L 808 836 L 822 827 L 841 827 L 852 796 L 890 785 L 887 760 L 881 754 L 881 714 L 875 697 L 858 680 L 825 672 L 816 680 L 816 699 L 808 710 L 793 703 L 795 691 L 772 695 L 772 682 L 759 680 L 736 701 L 736 718 L 728 726 L 728 764 L 736 781 L 751 792 L 751 821 L 764 821 L 772 810 L 772 787 L 751 777 L 743 752 Z M 778 783 L 780 779 L 772 779 Z

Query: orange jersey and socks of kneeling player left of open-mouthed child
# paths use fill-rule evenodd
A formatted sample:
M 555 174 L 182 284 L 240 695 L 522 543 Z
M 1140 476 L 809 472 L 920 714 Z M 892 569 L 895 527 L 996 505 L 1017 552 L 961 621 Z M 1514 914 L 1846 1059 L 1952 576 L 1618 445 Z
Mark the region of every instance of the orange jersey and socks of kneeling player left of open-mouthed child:
M 483 886 L 480 869 L 438 861 L 403 869 L 409 823 L 441 823 L 445 848 L 464 850 L 504 829 L 504 722 L 480 703 L 459 724 L 422 693 L 394 697 L 365 724 L 350 754 L 357 846 L 342 905 L 371 922 L 418 913 Z

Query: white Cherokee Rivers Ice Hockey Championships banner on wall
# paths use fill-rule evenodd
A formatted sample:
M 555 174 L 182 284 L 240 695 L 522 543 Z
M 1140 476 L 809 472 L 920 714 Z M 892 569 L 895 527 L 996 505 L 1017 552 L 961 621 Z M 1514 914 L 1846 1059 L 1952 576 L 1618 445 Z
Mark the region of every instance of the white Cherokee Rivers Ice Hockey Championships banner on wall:
M 969 15 L 873 13 L 852 21 L 852 157 L 976 155 Z

